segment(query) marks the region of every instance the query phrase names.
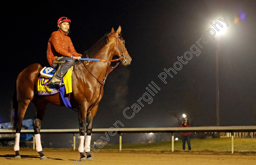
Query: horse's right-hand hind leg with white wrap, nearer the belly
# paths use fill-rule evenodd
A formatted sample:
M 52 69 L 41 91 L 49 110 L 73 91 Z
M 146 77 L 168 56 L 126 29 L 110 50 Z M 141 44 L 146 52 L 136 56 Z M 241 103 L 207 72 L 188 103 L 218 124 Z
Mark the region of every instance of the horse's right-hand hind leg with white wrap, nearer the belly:
M 43 159 L 47 159 L 47 157 L 43 153 L 43 149 L 41 145 L 40 129 L 41 129 L 41 122 L 44 118 L 45 110 L 48 103 L 43 99 L 36 99 L 36 98 L 32 100 L 32 103 L 36 108 L 36 116 L 33 122 L 33 128 L 35 132 L 35 141 L 36 141 L 36 150 L 40 155 L 40 159 L 43 160 Z

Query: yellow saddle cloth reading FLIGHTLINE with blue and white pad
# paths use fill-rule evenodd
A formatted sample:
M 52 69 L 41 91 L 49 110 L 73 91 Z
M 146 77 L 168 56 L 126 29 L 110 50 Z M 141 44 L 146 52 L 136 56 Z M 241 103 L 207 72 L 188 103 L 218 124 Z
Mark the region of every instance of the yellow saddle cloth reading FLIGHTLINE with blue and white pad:
M 49 82 L 52 79 L 53 74 L 56 72 L 57 69 L 52 67 L 44 67 L 40 72 L 40 77 L 37 83 L 37 91 L 38 95 L 54 95 L 59 93 L 59 89 L 56 89 L 55 85 L 51 85 Z M 63 83 L 65 83 L 65 91 L 66 94 L 72 92 L 72 75 L 73 66 L 69 68 L 67 73 L 63 77 Z

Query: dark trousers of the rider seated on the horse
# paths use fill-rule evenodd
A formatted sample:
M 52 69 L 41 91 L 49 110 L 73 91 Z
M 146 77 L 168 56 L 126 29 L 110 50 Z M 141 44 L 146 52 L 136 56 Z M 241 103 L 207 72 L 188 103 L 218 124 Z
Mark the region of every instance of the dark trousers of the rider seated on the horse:
M 58 57 L 53 61 L 52 68 L 57 69 L 55 77 L 62 79 L 66 72 L 73 66 L 75 60 L 70 57 Z

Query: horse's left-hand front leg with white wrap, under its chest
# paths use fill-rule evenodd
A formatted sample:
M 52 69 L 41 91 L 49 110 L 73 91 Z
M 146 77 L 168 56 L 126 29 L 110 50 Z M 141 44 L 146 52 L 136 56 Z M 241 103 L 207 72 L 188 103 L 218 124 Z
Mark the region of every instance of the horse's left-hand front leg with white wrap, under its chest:
M 86 114 L 87 114 L 87 107 L 80 106 L 78 110 L 78 119 L 79 119 L 79 147 L 78 151 L 80 153 L 80 161 L 86 160 L 86 157 L 84 155 L 84 135 L 86 133 Z

